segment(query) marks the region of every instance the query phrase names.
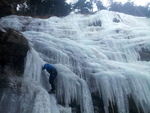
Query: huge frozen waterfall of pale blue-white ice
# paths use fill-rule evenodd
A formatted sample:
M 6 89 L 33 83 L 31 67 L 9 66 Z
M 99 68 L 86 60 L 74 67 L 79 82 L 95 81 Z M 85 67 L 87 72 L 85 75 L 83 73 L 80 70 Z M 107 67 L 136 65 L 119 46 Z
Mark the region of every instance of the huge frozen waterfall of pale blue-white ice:
M 12 15 L 0 25 L 19 30 L 30 45 L 20 92 L 5 90 L 0 112 L 72 113 L 75 101 L 81 113 L 94 113 L 91 93 L 99 92 L 105 113 L 109 102 L 129 113 L 129 96 L 150 113 L 150 62 L 139 54 L 150 51 L 150 19 L 103 10 L 48 19 Z M 56 96 L 47 93 L 46 62 L 58 69 Z

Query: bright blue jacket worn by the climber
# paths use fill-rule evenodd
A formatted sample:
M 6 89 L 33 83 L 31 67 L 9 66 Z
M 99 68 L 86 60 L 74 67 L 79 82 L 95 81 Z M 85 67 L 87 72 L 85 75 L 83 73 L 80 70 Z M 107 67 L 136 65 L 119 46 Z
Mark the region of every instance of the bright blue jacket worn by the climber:
M 44 67 L 42 68 L 42 70 L 46 69 L 46 71 L 50 74 L 50 75 L 54 75 L 57 76 L 57 69 L 55 67 L 53 67 L 50 64 L 45 64 Z

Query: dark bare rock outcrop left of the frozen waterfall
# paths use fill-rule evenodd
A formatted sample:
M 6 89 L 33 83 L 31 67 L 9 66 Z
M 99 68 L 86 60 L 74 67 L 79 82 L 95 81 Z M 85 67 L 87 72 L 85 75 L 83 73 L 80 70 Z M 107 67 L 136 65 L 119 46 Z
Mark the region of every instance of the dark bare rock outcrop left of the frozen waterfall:
M 28 51 L 28 41 L 17 31 L 0 30 L 0 72 L 6 73 L 6 68 L 16 75 L 24 71 L 24 58 Z

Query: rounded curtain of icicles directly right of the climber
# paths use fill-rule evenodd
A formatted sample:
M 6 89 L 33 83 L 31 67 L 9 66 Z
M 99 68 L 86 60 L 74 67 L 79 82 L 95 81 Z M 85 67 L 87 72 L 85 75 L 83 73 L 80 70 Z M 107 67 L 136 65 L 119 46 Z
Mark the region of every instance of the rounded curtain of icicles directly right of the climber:
M 57 98 L 68 106 L 76 101 L 80 105 L 82 113 L 94 113 L 91 94 L 86 82 L 72 73 L 63 65 L 55 65 L 58 68 Z

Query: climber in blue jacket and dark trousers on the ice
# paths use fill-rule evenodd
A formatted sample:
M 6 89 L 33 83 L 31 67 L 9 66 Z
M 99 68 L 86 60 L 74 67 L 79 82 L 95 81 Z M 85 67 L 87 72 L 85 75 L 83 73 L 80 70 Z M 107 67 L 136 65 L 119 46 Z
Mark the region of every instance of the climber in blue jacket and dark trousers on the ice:
M 46 69 L 46 71 L 50 74 L 49 83 L 51 84 L 52 89 L 49 91 L 49 93 L 56 93 L 54 80 L 58 73 L 57 69 L 50 64 L 44 64 L 44 67 L 42 68 L 42 70 L 44 69 Z

